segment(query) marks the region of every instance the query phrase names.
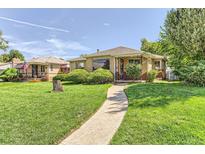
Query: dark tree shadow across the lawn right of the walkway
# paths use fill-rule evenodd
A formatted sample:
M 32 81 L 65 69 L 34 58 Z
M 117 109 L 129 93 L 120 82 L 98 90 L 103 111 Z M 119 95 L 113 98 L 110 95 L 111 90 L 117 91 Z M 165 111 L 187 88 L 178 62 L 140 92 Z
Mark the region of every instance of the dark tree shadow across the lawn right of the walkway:
M 170 103 L 185 102 L 195 96 L 193 87 L 180 83 L 147 83 L 135 84 L 125 90 L 129 107 L 164 107 Z

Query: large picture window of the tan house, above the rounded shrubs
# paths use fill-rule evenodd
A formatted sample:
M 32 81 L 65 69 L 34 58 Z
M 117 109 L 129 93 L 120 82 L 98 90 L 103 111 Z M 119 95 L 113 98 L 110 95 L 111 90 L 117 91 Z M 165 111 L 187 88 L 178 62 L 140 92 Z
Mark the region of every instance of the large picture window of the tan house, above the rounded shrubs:
M 98 68 L 110 69 L 110 60 L 109 59 L 94 59 L 93 60 L 93 70 Z

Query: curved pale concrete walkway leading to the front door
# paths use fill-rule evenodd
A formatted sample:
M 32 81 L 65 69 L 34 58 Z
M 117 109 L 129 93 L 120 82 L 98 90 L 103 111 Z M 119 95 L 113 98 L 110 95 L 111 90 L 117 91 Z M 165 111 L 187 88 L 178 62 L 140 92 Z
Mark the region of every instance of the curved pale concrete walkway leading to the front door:
M 110 87 L 103 106 L 60 144 L 109 144 L 127 111 L 125 85 Z

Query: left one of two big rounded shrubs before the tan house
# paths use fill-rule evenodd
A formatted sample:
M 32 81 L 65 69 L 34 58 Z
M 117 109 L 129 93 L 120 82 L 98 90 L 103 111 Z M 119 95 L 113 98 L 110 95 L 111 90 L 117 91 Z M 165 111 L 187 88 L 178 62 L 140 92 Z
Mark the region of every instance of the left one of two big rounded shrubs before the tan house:
M 75 69 L 67 75 L 66 81 L 72 81 L 73 83 L 86 83 L 88 76 L 88 71 L 84 69 Z

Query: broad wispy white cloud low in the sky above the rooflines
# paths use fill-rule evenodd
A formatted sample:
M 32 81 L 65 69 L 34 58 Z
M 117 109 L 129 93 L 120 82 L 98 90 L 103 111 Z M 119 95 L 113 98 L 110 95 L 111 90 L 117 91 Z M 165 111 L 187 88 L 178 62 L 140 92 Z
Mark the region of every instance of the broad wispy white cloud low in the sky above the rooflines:
M 51 38 L 47 40 L 25 41 L 10 35 L 4 35 L 9 41 L 10 49 L 21 51 L 26 59 L 38 56 L 56 56 L 65 59 L 76 57 L 76 52 L 88 51 L 89 48 L 76 41 L 64 41 Z

